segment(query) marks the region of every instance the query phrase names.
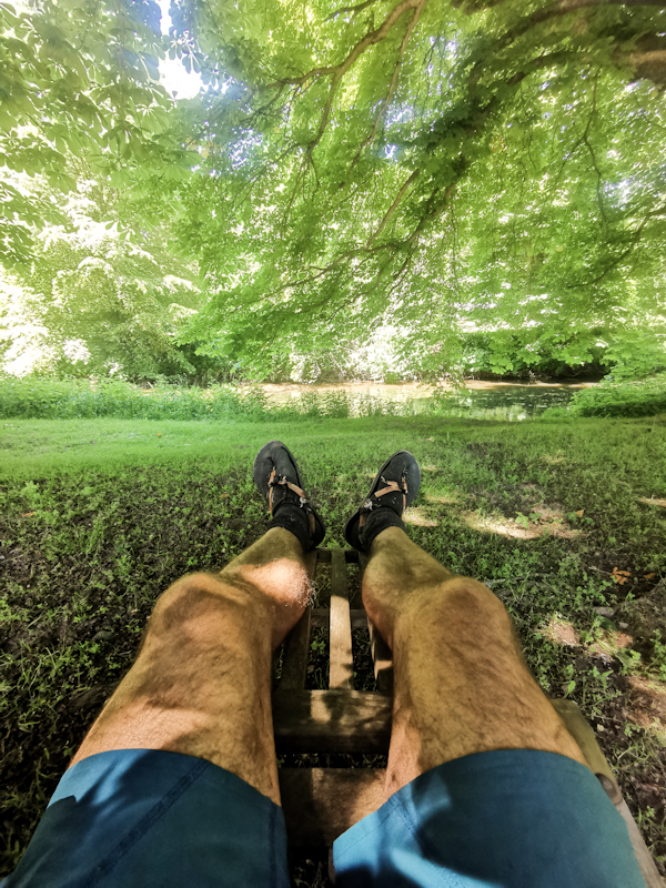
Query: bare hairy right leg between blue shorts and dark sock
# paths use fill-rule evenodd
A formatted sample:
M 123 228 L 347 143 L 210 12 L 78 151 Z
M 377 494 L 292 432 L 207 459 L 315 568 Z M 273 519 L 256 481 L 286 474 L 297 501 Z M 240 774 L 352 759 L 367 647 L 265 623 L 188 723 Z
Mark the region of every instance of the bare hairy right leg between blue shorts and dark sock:
M 375 537 L 365 609 L 393 650 L 386 794 L 472 753 L 541 749 L 586 764 L 529 674 L 504 605 L 397 527 Z

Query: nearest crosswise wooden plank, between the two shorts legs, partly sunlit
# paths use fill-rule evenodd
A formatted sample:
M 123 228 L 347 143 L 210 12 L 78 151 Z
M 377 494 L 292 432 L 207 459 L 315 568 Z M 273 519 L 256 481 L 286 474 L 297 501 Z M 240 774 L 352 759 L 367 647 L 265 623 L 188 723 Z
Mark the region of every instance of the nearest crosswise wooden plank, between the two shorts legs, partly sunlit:
M 290 847 L 331 846 L 386 800 L 380 768 L 281 768 L 280 795 Z

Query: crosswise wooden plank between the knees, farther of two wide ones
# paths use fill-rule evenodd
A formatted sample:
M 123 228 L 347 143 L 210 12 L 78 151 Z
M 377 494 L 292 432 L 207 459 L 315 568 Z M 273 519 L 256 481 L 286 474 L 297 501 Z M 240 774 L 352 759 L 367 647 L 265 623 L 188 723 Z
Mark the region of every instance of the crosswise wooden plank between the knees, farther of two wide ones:
M 363 690 L 273 694 L 275 748 L 281 753 L 387 753 L 392 698 Z

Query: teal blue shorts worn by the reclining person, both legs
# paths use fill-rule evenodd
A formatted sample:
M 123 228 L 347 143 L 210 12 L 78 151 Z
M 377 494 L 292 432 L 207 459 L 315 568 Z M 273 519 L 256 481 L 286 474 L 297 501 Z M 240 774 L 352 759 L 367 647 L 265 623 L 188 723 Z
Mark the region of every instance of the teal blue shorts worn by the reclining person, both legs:
M 594 775 L 564 756 L 480 753 L 392 796 L 334 845 L 340 888 L 645 888 Z M 287 888 L 282 810 L 178 753 L 121 749 L 62 777 L 3 888 Z

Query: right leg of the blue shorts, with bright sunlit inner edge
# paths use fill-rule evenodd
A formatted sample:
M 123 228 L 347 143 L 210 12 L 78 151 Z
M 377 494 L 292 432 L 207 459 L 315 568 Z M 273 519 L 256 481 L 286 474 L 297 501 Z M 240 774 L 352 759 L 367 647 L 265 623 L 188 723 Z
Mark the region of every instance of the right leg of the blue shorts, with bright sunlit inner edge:
M 645 888 L 592 771 L 554 753 L 480 753 L 395 793 L 333 848 L 340 888 Z

